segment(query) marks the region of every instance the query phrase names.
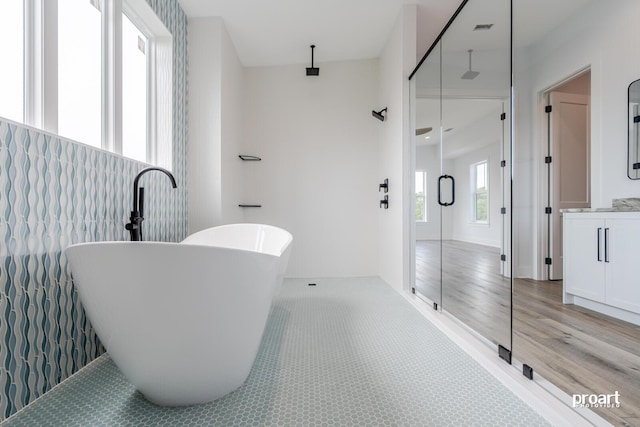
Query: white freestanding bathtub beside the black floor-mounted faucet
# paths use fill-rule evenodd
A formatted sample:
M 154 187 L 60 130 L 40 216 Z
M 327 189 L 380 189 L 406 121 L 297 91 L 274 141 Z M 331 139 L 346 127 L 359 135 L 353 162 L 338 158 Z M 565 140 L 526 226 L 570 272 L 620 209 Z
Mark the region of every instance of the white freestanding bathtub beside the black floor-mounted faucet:
M 148 400 L 183 406 L 249 375 L 291 241 L 277 227 L 232 224 L 181 243 L 82 243 L 66 254 L 118 368 Z

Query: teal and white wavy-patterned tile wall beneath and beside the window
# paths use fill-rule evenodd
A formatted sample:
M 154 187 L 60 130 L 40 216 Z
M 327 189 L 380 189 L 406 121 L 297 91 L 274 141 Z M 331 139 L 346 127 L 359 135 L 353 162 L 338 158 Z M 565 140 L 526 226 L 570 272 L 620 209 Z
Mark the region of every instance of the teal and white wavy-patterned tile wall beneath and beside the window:
M 187 233 L 187 19 L 177 0 L 149 4 L 174 37 L 173 174 L 149 174 L 145 237 Z M 145 165 L 0 119 L 0 421 L 103 352 L 64 249 L 126 240 L 131 187 Z M 167 181 L 167 182 L 165 182 Z

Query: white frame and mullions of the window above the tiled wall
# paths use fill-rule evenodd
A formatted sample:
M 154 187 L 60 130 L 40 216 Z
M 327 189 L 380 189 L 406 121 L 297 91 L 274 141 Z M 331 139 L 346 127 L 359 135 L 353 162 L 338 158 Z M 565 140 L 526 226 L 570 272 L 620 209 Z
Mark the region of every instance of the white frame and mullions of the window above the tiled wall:
M 126 13 L 147 37 L 147 156 L 144 163 L 172 170 L 173 36 L 146 0 L 93 0 L 92 4 L 98 4 L 102 14 L 101 143 L 96 148 L 123 155 L 122 14 Z M 23 5 L 22 123 L 58 135 L 58 0 L 24 0 Z

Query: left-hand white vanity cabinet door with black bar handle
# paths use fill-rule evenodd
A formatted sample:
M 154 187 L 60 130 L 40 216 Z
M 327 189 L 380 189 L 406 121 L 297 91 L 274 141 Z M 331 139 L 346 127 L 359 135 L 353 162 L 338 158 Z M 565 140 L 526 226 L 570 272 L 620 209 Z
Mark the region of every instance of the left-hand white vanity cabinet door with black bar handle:
M 565 291 L 605 302 L 604 220 L 564 218 Z M 598 245 L 599 244 L 599 245 Z

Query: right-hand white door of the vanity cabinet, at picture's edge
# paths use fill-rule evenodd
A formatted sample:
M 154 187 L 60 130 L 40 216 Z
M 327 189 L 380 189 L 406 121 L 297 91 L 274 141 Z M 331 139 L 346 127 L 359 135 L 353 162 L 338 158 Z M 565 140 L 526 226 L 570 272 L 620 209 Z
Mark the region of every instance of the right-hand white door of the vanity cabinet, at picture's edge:
M 640 313 L 640 220 L 607 219 L 606 303 Z

